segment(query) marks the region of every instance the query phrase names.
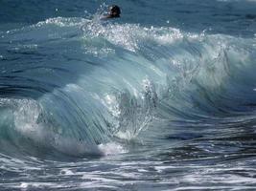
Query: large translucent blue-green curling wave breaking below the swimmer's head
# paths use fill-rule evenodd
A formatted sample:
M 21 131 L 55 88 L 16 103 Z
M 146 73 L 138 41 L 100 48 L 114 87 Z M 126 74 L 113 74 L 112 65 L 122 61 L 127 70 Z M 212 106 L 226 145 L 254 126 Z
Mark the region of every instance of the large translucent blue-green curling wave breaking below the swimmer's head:
M 255 46 L 81 18 L 1 32 L 0 152 L 104 155 L 154 120 L 254 117 Z

